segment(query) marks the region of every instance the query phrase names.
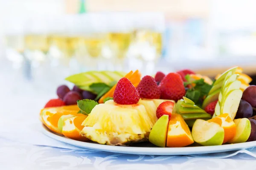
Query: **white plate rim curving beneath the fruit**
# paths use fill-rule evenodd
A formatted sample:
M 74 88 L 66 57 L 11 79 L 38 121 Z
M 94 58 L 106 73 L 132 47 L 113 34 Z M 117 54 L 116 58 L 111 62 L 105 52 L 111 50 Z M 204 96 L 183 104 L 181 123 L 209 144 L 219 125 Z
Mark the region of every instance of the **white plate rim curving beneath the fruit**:
M 101 150 L 113 153 L 128 153 L 139 155 L 193 155 L 204 153 L 219 153 L 232 150 L 241 150 L 256 147 L 256 141 L 239 144 L 224 144 L 219 146 L 197 146 L 197 147 L 154 147 L 149 142 L 134 144 L 133 146 L 110 146 L 94 142 L 81 142 L 58 135 L 43 125 L 43 133 L 52 139 L 72 144 L 87 149 Z M 145 146 L 146 145 L 146 146 Z M 143 147 L 142 147 L 143 146 Z

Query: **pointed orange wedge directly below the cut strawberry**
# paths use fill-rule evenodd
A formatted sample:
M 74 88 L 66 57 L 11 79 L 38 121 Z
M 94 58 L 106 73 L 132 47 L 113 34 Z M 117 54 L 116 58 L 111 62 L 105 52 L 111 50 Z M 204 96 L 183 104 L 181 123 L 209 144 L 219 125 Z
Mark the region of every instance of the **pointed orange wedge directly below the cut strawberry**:
M 167 147 L 184 147 L 194 143 L 191 132 L 179 114 L 172 114 L 168 125 Z

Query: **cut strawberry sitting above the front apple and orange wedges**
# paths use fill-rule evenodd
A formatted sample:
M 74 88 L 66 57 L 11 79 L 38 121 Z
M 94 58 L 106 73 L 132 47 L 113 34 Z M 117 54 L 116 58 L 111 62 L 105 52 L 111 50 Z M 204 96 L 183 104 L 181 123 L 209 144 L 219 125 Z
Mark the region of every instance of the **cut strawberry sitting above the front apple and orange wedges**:
M 171 101 L 166 101 L 161 103 L 157 107 L 157 119 L 159 119 L 161 116 L 166 114 L 166 115 L 169 115 L 169 120 L 170 120 L 172 116 L 173 106 L 174 106 L 174 102 L 171 102 Z

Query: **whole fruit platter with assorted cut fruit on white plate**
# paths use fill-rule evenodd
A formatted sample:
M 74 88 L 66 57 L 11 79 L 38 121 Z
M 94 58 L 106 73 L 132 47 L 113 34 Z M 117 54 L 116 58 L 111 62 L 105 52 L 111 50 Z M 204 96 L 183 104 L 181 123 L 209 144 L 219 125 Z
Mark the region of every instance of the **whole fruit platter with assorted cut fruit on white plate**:
M 185 69 L 71 75 L 40 112 L 61 142 L 117 153 L 184 155 L 256 147 L 256 86 L 240 67 L 214 79 Z M 150 149 L 148 149 L 150 148 Z

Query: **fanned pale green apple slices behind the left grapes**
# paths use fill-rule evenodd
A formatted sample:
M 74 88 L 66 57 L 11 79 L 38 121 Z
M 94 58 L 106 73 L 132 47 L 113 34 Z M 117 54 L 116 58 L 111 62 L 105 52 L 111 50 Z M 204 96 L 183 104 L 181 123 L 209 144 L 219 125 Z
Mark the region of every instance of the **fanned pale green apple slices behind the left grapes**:
M 87 71 L 74 74 L 66 78 L 67 81 L 74 83 L 82 90 L 90 91 L 89 86 L 93 83 L 103 82 L 109 84 L 118 81 L 125 76 L 122 71 Z

